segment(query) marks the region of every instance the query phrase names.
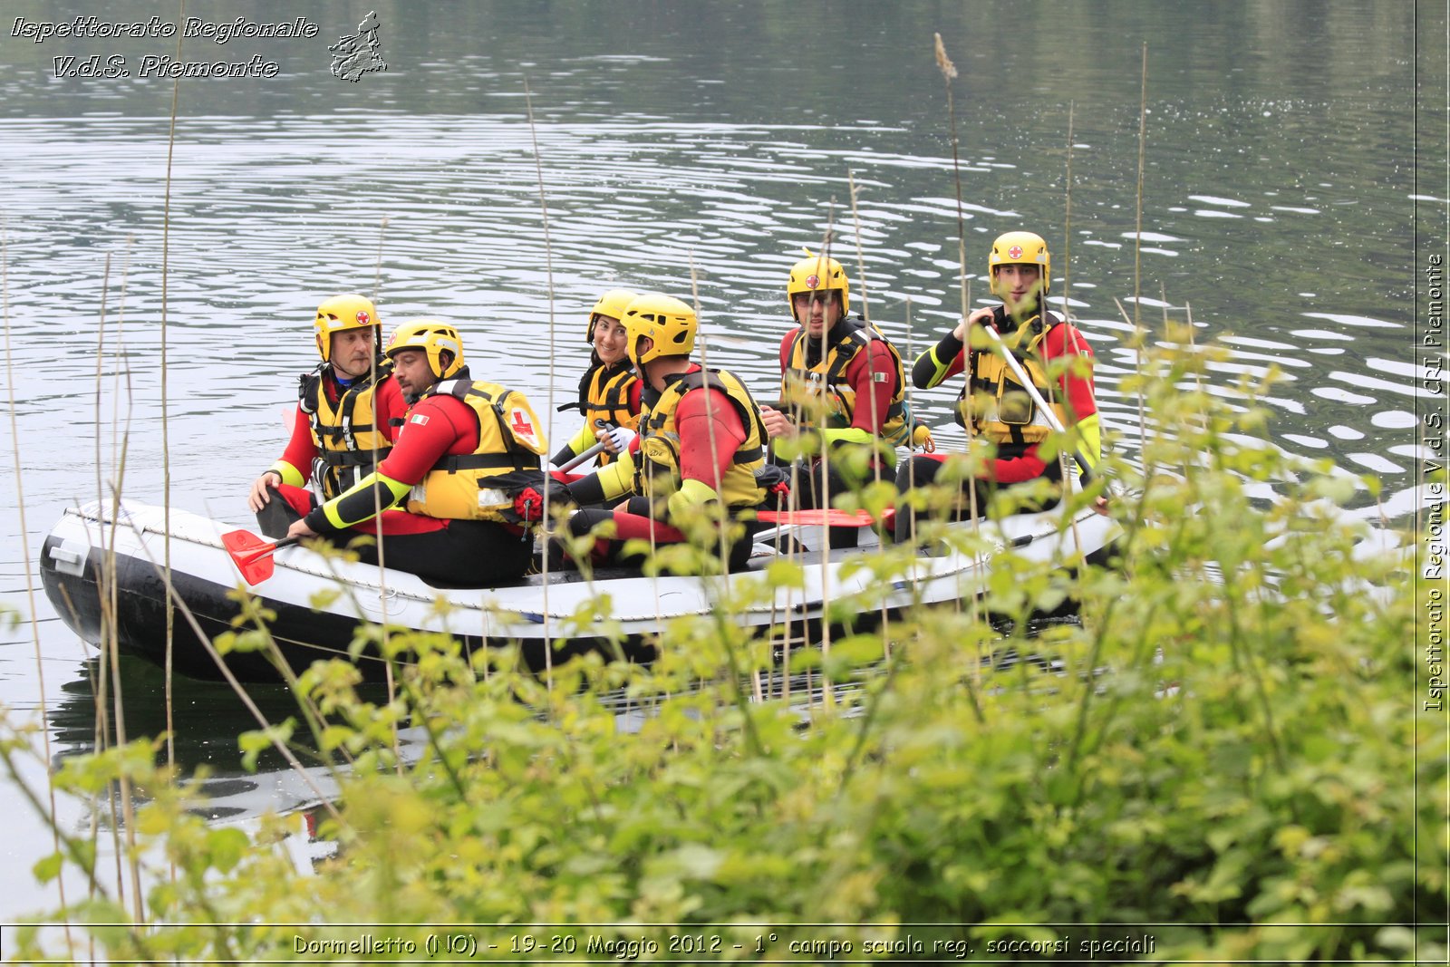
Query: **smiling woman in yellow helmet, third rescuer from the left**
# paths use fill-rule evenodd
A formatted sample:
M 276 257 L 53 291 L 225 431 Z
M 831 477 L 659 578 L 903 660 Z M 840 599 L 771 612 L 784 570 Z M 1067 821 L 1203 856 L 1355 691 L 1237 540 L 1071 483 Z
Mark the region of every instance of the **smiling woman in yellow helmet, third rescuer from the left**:
M 579 409 L 584 425 L 564 444 L 554 462 L 560 467 L 574 460 L 596 442 L 605 445 L 599 465 L 605 467 L 639 426 L 639 377 L 629 362 L 625 326 L 621 318 L 638 293 L 610 289 L 589 313 L 584 341 L 590 345 L 589 368 L 579 381 L 579 402 L 560 409 Z M 624 433 L 615 428 L 622 428 Z

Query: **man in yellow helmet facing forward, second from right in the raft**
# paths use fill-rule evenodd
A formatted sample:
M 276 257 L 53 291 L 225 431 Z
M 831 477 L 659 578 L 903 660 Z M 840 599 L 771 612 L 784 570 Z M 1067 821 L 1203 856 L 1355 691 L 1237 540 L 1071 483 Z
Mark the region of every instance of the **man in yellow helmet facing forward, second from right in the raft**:
M 782 407 L 761 412 L 771 441 L 813 436 L 800 441 L 805 455 L 793 489 L 799 506 L 828 507 L 832 494 L 874 474 L 890 478 L 895 448 L 911 445 L 906 378 L 896 346 L 850 315 L 851 281 L 841 262 L 808 249 L 790 267 L 786 303 L 796 328 L 780 341 Z M 824 449 L 831 451 L 826 461 Z M 853 451 L 864 451 L 856 467 L 847 458 Z M 856 535 L 854 528 L 832 532 L 832 547 Z

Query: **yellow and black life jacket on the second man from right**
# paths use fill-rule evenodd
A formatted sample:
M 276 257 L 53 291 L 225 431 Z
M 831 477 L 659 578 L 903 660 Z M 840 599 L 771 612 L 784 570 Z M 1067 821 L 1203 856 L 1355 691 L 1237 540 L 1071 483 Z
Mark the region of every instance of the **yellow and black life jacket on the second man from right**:
M 896 375 L 896 390 L 892 402 L 882 415 L 882 439 L 892 447 L 900 447 L 911 439 L 911 422 L 906 418 L 906 375 L 902 370 L 902 357 L 890 339 L 867 325 L 861 318 L 844 319 L 840 328 L 845 333 L 834 341 L 826 341 L 825 357 L 815 365 L 806 365 L 806 351 L 809 339 L 802 326 L 796 331 L 795 342 L 784 371 L 780 374 L 780 399 L 795 410 L 798 422 L 811 426 L 816 422 L 812 410 L 825 409 L 825 429 L 845 429 L 856 419 L 856 390 L 845 378 L 845 370 L 856 360 L 857 354 L 866 349 L 873 339 L 880 341 L 892 355 L 892 365 Z

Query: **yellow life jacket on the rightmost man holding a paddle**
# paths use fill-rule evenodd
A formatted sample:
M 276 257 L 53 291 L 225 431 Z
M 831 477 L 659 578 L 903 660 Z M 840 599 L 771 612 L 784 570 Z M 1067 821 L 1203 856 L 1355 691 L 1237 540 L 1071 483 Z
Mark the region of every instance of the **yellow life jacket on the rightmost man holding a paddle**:
M 1051 386 L 1038 348 L 1051 329 L 1061 323 L 1060 319 L 1048 313 L 1048 322 L 1041 316 L 1032 316 L 1022 322 L 1012 333 L 1003 333 L 1002 342 L 1022 364 L 1038 394 L 1048 400 L 1057 419 L 1067 426 L 1067 410 L 1063 407 L 1063 391 L 1058 386 Z M 993 318 L 998 323 L 1002 315 Z M 966 426 L 972 419 L 974 433 L 990 439 L 995 444 L 1040 444 L 1053 432 L 1051 423 L 1006 361 L 995 349 L 973 349 L 969 354 L 970 370 L 966 386 L 957 397 L 957 423 Z M 974 412 L 980 404 L 982 412 Z

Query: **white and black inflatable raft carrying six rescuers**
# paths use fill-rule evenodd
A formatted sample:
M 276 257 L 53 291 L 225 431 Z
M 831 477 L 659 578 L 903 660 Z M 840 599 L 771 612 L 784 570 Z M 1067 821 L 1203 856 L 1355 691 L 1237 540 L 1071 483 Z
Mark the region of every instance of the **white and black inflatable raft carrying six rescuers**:
M 969 523 L 954 526 L 970 528 Z M 982 522 L 983 535 L 998 548 L 1014 548 L 1027 558 L 1050 561 L 1102 552 L 1116 525 L 1090 509 L 1067 522 L 1063 510 L 1022 513 L 1002 522 Z M 239 606 L 236 565 L 222 544 L 232 528 L 173 509 L 170 534 L 162 507 L 126 502 L 112 516 L 109 507 L 88 505 L 68 509 L 45 538 L 41 573 L 45 592 L 61 618 L 84 639 L 99 642 L 103 629 L 103 587 L 115 590 L 115 628 L 125 652 L 155 663 L 165 658 L 168 610 L 175 635 L 173 667 L 187 676 L 219 676 L 207 647 L 186 615 L 168 609 L 161 563 L 170 536 L 171 580 L 199 631 L 207 638 L 231 631 Z M 798 554 L 803 587 L 773 587 L 763 570 L 779 560 L 783 532 Z M 870 531 L 863 534 L 874 538 Z M 774 542 L 773 542 L 774 541 Z M 458 636 L 468 647 L 516 641 L 525 657 L 542 664 L 552 647 L 555 660 L 570 649 L 599 645 L 596 622 L 608 621 L 610 634 L 638 642 L 660 632 L 671 619 L 709 615 L 722 599 L 740 602 L 731 609 L 737 623 L 767 632 L 773 626 L 809 626 L 819 622 L 831 602 L 860 600 L 861 610 L 899 609 L 915 603 L 958 600 L 983 587 L 990 555 L 947 552 L 918 558 L 909 580 L 890 584 L 870 568 L 853 563 L 874 549 L 861 547 L 819 551 L 825 528 L 782 528 L 757 536 L 747 571 L 728 577 L 642 577 L 638 571 L 579 571 L 531 576 L 516 584 L 492 589 L 434 587 L 402 571 L 380 571 L 303 547 L 274 554 L 273 577 L 251 589 L 276 613 L 270 628 L 281 655 L 293 668 L 316 658 L 347 657 L 360 622 L 436 631 Z M 112 584 L 113 581 L 113 584 Z M 341 592 L 341 593 L 339 593 Z M 608 605 L 600 603 L 608 596 Z M 447 607 L 439 607 L 439 600 Z M 606 613 L 596 613 L 603 610 Z M 580 615 L 593 616 L 580 628 Z M 558 647 L 568 639 L 567 648 Z M 368 677 L 383 674 L 383 661 L 364 651 L 352 658 Z M 244 680 L 276 680 L 277 671 L 260 652 L 233 652 L 228 667 Z

